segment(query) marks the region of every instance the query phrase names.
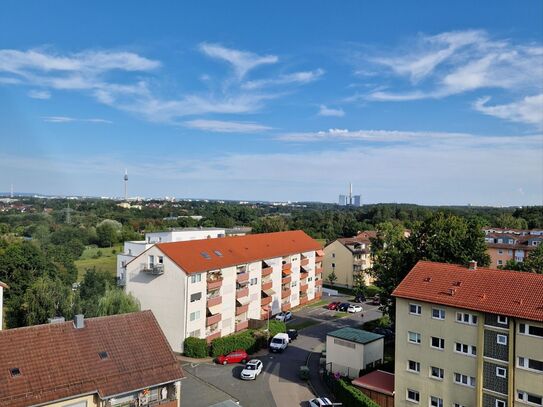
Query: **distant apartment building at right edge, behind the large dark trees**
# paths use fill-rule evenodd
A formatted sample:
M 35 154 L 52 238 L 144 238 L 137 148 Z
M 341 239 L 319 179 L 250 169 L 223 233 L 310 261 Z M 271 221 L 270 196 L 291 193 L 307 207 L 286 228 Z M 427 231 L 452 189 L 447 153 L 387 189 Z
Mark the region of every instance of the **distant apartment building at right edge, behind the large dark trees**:
M 543 242 L 539 229 L 485 228 L 485 243 L 490 256 L 490 267 L 505 266 L 507 261 L 522 263 Z

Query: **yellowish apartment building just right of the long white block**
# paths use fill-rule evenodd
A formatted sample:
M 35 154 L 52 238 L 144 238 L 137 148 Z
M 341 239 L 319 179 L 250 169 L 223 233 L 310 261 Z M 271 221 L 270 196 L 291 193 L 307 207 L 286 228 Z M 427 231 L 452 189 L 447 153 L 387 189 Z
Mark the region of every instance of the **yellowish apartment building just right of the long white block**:
M 361 275 L 366 285 L 373 283 L 373 278 L 366 270 L 372 266 L 370 238 L 376 237 L 376 232 L 366 231 L 350 238 L 340 238 L 324 248 L 324 280 L 335 273 L 337 280 L 334 285 L 352 287 L 358 275 Z

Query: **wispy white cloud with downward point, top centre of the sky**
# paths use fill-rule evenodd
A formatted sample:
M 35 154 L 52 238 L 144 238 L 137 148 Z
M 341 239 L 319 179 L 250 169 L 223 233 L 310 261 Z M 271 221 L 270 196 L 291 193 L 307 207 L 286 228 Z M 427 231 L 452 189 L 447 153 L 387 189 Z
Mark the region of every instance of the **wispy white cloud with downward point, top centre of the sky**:
M 200 50 L 211 58 L 222 59 L 231 64 L 240 80 L 249 71 L 260 65 L 275 64 L 279 61 L 279 58 L 275 55 L 260 56 L 252 52 L 226 48 L 219 44 L 202 43 L 200 44 Z

